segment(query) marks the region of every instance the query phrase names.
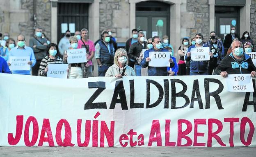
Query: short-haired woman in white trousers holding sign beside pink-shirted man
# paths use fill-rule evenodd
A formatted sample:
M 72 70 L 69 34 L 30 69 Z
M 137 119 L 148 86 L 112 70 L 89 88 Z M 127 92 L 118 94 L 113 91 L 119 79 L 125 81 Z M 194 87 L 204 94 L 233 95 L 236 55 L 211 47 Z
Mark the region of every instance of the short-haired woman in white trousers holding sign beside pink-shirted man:
M 69 42 L 71 44 L 71 47 L 69 49 L 77 49 L 78 47 L 78 39 L 76 36 L 71 36 L 69 38 Z M 64 52 L 63 56 L 63 63 L 68 63 L 68 55 L 67 52 Z M 86 77 L 86 63 L 72 63 L 69 64 L 69 73 L 68 73 L 68 79 L 79 79 L 79 78 L 85 78 Z

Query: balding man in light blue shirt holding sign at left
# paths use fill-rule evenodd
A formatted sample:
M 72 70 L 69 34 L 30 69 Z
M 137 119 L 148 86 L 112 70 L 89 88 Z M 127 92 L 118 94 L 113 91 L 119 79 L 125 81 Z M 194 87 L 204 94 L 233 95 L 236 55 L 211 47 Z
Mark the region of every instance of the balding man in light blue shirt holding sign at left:
M 11 51 L 9 52 L 9 57 L 10 56 L 21 56 L 21 57 L 29 56 L 30 61 L 28 61 L 27 64 L 33 67 L 36 64 L 37 60 L 34 56 L 33 49 L 31 47 L 26 46 L 25 43 L 26 43 L 25 37 L 21 34 L 18 35 L 17 46 L 11 49 Z M 9 66 L 11 65 L 9 63 L 9 58 L 7 63 Z M 30 75 L 30 70 L 13 70 L 12 73 Z

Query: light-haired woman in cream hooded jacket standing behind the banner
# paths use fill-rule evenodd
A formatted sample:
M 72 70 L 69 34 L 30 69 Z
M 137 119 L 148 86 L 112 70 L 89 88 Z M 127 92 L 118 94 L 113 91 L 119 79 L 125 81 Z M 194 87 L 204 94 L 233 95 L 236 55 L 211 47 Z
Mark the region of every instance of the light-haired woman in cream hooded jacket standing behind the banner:
M 114 64 L 108 68 L 105 76 L 118 78 L 135 76 L 133 68 L 128 66 L 128 56 L 125 49 L 117 49 L 114 55 Z

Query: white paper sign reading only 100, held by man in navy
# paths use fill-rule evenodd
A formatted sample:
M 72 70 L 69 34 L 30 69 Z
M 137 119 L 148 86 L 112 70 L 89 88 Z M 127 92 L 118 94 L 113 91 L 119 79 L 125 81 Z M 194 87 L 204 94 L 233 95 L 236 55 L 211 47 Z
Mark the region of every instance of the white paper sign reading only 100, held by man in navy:
M 170 52 L 149 52 L 149 67 L 169 67 Z

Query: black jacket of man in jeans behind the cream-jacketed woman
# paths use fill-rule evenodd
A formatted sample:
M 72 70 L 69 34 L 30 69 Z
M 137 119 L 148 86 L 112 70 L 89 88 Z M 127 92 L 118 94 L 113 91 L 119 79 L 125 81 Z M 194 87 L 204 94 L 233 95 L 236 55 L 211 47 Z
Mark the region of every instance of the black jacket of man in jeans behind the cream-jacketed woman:
M 128 58 L 132 58 L 133 60 L 137 61 L 137 58 L 139 58 L 140 52 L 142 52 L 142 49 L 146 49 L 146 42 L 144 42 L 144 47 L 139 43 L 133 43 L 130 46 L 129 52 L 128 52 Z M 135 62 L 135 65 L 138 65 L 138 62 Z

